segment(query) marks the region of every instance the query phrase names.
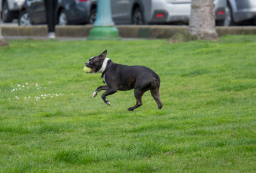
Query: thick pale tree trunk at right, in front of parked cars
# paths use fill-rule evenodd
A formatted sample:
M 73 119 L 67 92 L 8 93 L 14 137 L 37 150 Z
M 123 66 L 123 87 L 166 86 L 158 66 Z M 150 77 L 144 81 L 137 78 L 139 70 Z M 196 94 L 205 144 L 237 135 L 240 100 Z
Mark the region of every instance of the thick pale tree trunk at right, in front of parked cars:
M 188 32 L 198 39 L 218 40 L 213 0 L 192 0 Z

